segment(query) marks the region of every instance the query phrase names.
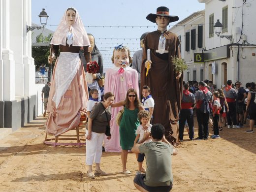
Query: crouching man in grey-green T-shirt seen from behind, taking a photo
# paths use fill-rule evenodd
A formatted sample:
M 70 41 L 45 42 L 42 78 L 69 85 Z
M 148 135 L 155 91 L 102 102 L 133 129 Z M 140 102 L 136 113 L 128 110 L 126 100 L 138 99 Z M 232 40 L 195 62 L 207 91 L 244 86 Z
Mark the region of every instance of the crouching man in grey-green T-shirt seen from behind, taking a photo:
M 146 132 L 131 149 L 133 153 L 144 153 L 146 157 L 146 174 L 137 175 L 133 182 L 141 192 L 169 192 L 172 189 L 173 176 L 171 170 L 171 155 L 178 152 L 164 137 L 164 127 L 155 124 L 151 128 L 152 142 L 144 143 L 150 137 Z

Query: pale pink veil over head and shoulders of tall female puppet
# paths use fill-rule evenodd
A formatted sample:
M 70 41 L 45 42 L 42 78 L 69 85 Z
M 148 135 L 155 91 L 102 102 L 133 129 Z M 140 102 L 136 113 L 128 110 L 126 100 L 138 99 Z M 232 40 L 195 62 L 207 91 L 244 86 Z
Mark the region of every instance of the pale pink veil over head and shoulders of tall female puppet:
M 64 13 L 64 16 L 62 17 L 61 23 L 59 24 L 57 30 L 53 34 L 53 38 L 51 40 L 52 45 L 66 45 L 66 38 L 67 38 L 67 32 L 69 29 L 73 33 L 73 43 L 72 46 L 77 47 L 83 47 L 83 46 L 91 46 L 87 32 L 85 31 L 83 22 L 78 14 L 78 11 L 73 8 L 76 11 L 76 18 L 75 23 L 73 25 L 69 25 L 66 21 L 66 11 Z

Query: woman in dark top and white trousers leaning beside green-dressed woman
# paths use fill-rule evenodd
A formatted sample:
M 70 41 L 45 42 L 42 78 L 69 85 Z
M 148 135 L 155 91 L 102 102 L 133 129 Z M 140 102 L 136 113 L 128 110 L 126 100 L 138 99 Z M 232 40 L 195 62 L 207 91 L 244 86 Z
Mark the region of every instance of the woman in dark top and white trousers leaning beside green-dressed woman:
M 93 173 L 93 162 L 96 163 L 95 173 L 106 175 L 100 169 L 99 163 L 102 155 L 102 144 L 106 126 L 111 119 L 111 104 L 114 101 L 114 95 L 111 92 L 103 96 L 103 101 L 98 102 L 91 111 L 88 123 L 86 125 L 86 164 L 88 165 L 87 177 L 95 179 Z M 110 139 L 108 136 L 107 139 Z

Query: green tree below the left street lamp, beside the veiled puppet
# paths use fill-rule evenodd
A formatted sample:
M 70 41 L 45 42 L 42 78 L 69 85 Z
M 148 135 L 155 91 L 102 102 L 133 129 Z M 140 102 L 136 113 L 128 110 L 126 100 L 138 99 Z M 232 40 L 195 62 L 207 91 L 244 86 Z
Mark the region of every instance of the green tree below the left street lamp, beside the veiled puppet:
M 34 58 L 35 68 L 39 68 L 41 64 L 48 66 L 48 56 L 50 55 L 50 42 L 52 33 L 44 36 L 42 33 L 36 36 L 36 43 L 48 43 L 48 46 L 32 46 L 32 58 Z

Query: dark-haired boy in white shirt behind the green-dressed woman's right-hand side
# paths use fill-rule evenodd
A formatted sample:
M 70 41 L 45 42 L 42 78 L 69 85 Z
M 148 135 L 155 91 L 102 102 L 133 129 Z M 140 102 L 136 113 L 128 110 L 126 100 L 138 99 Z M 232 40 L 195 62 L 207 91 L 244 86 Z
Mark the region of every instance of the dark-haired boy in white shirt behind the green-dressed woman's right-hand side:
M 150 114 L 149 119 L 151 120 L 152 115 L 153 115 L 153 111 L 154 111 L 155 101 L 152 98 L 152 96 L 150 95 L 149 86 L 147 86 L 147 85 L 143 86 L 142 95 L 143 95 L 144 98 L 142 99 L 141 102 L 142 102 L 143 107 L 145 108 L 145 110 L 149 111 L 149 114 Z

